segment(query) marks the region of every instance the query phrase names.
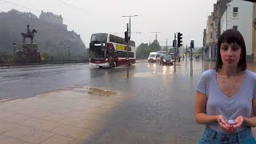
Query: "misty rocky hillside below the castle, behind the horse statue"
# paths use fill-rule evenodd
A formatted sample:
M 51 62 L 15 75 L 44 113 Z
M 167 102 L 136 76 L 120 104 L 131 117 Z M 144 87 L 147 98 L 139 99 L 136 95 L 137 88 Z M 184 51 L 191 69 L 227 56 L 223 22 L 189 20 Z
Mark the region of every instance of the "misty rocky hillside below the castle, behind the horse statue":
M 0 51 L 12 52 L 13 43 L 22 43 L 21 33 L 26 33 L 26 25 L 30 30 L 38 31 L 34 36 L 34 43 L 38 44 L 38 51 L 52 56 L 66 56 L 70 47 L 70 56 L 86 56 L 86 46 L 80 35 L 74 31 L 68 31 L 66 25 L 54 24 L 37 18 L 31 13 L 21 13 L 17 10 L 10 10 L 7 13 L 0 13 Z M 30 42 L 26 38 L 26 42 Z

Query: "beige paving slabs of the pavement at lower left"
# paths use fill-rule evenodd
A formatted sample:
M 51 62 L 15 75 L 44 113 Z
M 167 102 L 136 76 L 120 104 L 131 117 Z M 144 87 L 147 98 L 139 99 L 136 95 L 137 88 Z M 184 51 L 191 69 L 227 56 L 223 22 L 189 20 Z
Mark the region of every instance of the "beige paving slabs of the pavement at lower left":
M 51 90 L 0 102 L 1 144 L 86 143 L 102 131 L 126 97 L 94 87 Z

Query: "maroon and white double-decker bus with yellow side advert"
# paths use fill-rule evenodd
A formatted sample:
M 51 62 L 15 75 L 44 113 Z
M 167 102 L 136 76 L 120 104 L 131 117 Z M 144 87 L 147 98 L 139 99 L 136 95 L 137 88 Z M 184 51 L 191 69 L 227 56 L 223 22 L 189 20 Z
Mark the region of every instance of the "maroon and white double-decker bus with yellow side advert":
M 115 67 L 135 63 L 135 42 L 129 41 L 128 47 L 125 38 L 107 33 L 92 34 L 90 38 L 90 66 Z M 129 50 L 128 57 L 126 50 Z M 126 59 L 126 57 L 128 59 Z

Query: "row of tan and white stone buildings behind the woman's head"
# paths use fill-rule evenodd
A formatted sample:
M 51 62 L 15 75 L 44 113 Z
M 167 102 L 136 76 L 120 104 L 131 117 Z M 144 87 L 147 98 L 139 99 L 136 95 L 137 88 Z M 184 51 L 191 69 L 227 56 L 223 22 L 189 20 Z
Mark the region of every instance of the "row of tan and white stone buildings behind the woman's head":
M 217 43 L 220 34 L 227 29 L 239 30 L 246 41 L 247 57 L 256 54 L 256 10 L 255 3 L 240 0 L 218 0 L 214 11 L 207 19 L 204 34 L 205 57 L 217 57 Z M 255 22 L 255 27 L 254 27 Z

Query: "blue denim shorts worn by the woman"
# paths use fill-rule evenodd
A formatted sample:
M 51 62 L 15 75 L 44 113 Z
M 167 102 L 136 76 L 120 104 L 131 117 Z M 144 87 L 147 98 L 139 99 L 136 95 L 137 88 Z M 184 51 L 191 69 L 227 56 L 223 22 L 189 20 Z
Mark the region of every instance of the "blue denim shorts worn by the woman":
M 256 143 L 251 128 L 239 131 L 234 134 L 222 134 L 210 127 L 206 126 L 206 130 L 202 134 L 199 144 L 240 144 L 240 143 Z

